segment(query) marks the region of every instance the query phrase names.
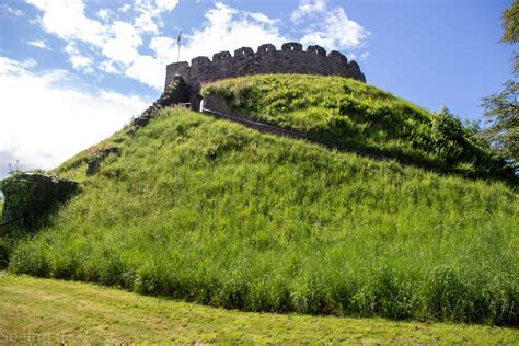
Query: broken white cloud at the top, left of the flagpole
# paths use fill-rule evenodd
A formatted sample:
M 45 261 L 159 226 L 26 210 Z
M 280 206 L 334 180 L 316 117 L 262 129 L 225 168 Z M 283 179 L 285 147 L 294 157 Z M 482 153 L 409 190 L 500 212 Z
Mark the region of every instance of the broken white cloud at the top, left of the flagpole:
M 102 72 L 124 73 L 158 90 L 163 88 L 165 64 L 171 62 L 165 60 L 170 57 L 165 50 L 171 47 L 171 43 L 158 35 L 160 15 L 172 11 L 177 0 L 136 0 L 132 7 L 119 9 L 123 12 L 134 9 L 137 16 L 130 22 L 114 20 L 109 10 L 101 9 L 96 15 L 105 23 L 86 16 L 82 0 L 27 2 L 43 12 L 39 23 L 47 33 L 68 42 L 65 51 L 69 54 L 74 69 L 85 73 L 94 73 L 94 68 Z M 157 36 L 151 38 L 150 44 L 157 57 L 138 51 L 142 45 L 142 35 L 147 32 Z M 95 64 L 92 54 L 82 51 L 86 49 L 104 56 L 105 60 Z

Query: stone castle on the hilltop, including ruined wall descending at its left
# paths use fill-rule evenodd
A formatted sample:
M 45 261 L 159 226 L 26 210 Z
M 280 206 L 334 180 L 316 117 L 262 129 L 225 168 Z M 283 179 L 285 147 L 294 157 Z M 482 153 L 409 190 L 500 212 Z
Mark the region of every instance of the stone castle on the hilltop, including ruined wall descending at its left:
M 301 73 L 318 76 L 341 76 L 366 82 L 366 77 L 355 61 L 339 51 L 326 55 L 321 46 L 309 46 L 304 51 L 302 45 L 289 42 L 276 50 L 272 44 L 261 45 L 254 53 L 250 47 L 229 51 L 220 51 L 208 57 L 174 62 L 166 66 L 165 86 L 162 95 L 138 118 L 136 127 L 146 126 L 150 118 L 161 108 L 174 104 L 189 104 L 192 109 L 200 109 L 200 85 L 204 82 L 219 79 L 268 73 Z

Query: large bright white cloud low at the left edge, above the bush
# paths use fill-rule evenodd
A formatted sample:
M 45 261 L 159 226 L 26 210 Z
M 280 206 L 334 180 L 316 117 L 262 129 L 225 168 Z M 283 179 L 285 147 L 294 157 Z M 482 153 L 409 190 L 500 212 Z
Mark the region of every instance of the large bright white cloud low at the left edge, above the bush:
M 34 73 L 34 65 L 0 57 L 0 114 L 5 115 L 0 126 L 0 175 L 14 160 L 24 169 L 54 168 L 120 129 L 149 104 L 109 91 L 58 86 L 72 82 L 67 71 Z

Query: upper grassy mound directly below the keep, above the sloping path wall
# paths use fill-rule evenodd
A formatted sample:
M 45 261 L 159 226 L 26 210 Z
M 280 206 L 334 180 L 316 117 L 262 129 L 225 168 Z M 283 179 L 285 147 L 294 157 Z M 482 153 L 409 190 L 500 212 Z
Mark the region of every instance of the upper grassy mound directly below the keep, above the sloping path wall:
M 465 176 L 514 180 L 474 130 L 447 109 L 432 114 L 351 79 L 252 76 L 207 84 L 203 94 L 222 96 L 246 117 L 361 152 Z

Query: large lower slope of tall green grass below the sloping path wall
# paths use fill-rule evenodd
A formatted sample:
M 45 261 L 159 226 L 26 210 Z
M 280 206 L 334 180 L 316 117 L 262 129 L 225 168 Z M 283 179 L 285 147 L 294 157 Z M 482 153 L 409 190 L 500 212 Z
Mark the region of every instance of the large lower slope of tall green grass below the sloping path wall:
M 168 109 L 123 132 L 13 273 L 246 311 L 517 323 L 517 194 Z

